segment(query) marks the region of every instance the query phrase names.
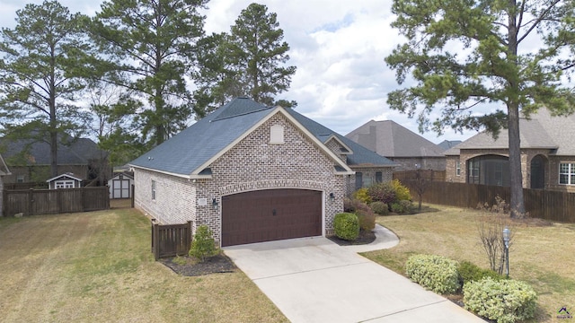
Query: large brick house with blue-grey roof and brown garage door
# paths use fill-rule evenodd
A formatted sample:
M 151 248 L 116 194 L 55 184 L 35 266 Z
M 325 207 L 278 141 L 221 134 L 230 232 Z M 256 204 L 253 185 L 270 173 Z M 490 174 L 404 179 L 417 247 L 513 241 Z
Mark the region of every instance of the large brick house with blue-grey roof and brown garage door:
M 394 163 L 294 109 L 234 99 L 130 162 L 135 205 L 221 246 L 332 234 L 356 172 Z

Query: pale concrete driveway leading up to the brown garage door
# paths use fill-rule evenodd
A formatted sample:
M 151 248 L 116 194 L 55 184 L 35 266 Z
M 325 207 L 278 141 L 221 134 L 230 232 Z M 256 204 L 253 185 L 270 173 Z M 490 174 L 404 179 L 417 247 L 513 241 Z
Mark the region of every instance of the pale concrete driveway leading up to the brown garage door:
M 224 250 L 292 322 L 484 322 L 326 238 Z

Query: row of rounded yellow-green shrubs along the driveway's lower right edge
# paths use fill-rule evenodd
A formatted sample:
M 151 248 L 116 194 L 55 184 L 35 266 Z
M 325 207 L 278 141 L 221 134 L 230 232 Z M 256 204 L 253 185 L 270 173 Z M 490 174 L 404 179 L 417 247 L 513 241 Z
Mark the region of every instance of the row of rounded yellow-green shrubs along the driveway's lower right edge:
M 536 294 L 531 286 L 501 279 L 495 272 L 472 263 L 415 255 L 408 258 L 405 271 L 412 281 L 433 292 L 454 293 L 463 284 L 465 309 L 485 319 L 510 323 L 535 315 Z

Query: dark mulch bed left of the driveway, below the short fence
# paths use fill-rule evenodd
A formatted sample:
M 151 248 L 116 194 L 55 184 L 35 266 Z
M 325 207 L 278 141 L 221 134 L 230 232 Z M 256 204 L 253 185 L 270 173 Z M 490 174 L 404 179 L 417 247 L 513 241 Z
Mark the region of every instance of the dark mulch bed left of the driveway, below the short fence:
M 158 261 L 172 269 L 176 274 L 184 276 L 233 273 L 237 268 L 234 262 L 223 253 L 208 258 L 204 262 L 199 262 L 197 259 L 188 256 L 161 258 Z

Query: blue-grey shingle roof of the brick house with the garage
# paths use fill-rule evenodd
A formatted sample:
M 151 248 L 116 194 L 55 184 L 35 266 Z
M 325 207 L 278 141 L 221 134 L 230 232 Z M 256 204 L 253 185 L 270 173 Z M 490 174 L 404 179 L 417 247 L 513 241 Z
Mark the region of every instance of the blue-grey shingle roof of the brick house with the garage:
M 294 118 L 294 121 L 300 124 L 299 127 L 314 135 L 318 144 L 323 144 L 322 138 L 317 135 L 319 124 L 299 115 L 293 109 L 266 107 L 251 99 L 236 98 L 164 144 L 130 162 L 130 165 L 181 177 L 201 176 L 210 162 L 278 112 Z M 334 134 L 329 129 L 325 130 L 325 134 L 328 132 L 329 135 Z M 327 148 L 325 150 L 332 154 Z M 358 157 L 360 155 L 361 153 Z M 332 156 L 334 162 L 341 163 L 340 170 L 350 171 L 337 156 Z

